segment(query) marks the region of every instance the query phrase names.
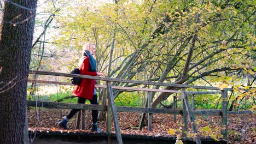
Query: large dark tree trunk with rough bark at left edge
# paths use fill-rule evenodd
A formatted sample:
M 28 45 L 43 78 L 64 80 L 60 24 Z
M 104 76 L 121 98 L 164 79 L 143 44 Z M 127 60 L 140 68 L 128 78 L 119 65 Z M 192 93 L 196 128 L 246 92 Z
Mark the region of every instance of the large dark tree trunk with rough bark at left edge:
M 5 1 L 0 29 L 0 141 L 27 143 L 27 77 L 37 0 Z

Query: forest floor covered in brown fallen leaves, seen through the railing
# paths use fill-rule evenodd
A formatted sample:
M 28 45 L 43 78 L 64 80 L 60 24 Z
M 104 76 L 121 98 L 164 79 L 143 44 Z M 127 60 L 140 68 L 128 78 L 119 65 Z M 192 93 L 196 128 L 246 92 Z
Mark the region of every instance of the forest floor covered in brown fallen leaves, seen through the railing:
M 39 122 L 37 122 L 36 109 L 30 107 L 27 110 L 28 114 L 28 129 L 42 131 L 67 131 L 57 126 L 63 116 L 67 115 L 69 110 L 60 109 L 42 109 L 38 110 Z M 153 115 L 153 130 L 148 131 L 147 127 L 138 130 L 139 113 L 118 112 L 121 134 L 129 135 L 148 135 L 148 136 L 179 136 L 181 135 L 182 122 L 181 115 L 176 116 L 176 122 L 173 121 L 173 115 L 154 114 Z M 208 134 L 217 136 L 220 134 L 221 117 L 220 116 L 196 116 L 197 130 L 201 136 Z M 92 119 L 91 112 L 85 112 L 85 130 L 75 130 L 76 115 L 68 122 L 68 127 L 71 132 L 86 132 L 90 133 Z M 246 128 L 245 128 L 246 125 Z M 106 132 L 106 121 L 98 122 L 99 128 Z M 175 134 L 167 133 L 171 129 L 176 131 Z M 112 119 L 112 131 L 114 132 L 114 123 Z M 191 124 L 188 124 L 188 135 L 192 134 Z M 172 132 L 173 133 L 173 132 Z M 246 134 L 245 140 L 244 136 Z M 204 136 L 205 137 L 205 136 Z M 221 136 L 220 136 L 221 137 Z M 255 114 L 245 115 L 228 115 L 228 137 L 222 139 L 228 143 L 256 143 L 256 119 Z

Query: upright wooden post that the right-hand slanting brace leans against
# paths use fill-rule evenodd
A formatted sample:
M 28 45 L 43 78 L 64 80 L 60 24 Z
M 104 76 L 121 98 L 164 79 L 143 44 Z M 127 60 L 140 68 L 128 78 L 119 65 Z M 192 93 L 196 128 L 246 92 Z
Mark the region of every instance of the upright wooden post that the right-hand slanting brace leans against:
M 183 96 L 185 95 L 185 88 L 182 88 L 182 137 L 187 137 L 188 130 L 188 112 L 186 109 L 185 101 Z

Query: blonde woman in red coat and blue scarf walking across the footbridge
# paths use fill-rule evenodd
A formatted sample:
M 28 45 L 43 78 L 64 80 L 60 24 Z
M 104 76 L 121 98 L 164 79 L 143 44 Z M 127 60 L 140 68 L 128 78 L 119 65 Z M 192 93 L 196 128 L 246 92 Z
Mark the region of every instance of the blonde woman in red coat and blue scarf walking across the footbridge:
M 104 76 L 104 73 L 98 73 L 96 71 L 96 60 L 92 55 L 95 55 L 96 47 L 92 43 L 86 43 L 83 46 L 83 55 L 79 60 L 79 69 L 82 75 L 91 75 L 91 76 Z M 98 105 L 97 101 L 97 91 L 95 89 L 95 80 L 92 79 L 82 79 L 80 85 L 77 85 L 74 89 L 73 95 L 78 97 L 78 104 L 84 104 L 86 99 L 90 100 L 90 103 L 93 105 Z M 62 121 L 58 124 L 63 129 L 68 129 L 67 122 L 71 119 L 78 109 L 72 109 L 69 114 L 63 117 Z M 92 128 L 91 131 L 101 130 L 97 127 L 97 118 L 98 111 L 92 110 Z

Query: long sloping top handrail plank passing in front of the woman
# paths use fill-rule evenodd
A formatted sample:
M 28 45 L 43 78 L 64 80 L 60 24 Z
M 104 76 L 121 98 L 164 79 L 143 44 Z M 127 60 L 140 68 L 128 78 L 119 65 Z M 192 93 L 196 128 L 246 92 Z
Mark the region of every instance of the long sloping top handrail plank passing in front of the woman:
M 100 77 L 100 76 L 89 76 L 89 75 L 77 75 L 77 74 L 66 74 L 66 73 L 55 73 L 50 71 L 37 71 L 30 70 L 30 74 L 39 74 L 39 75 L 55 75 L 55 76 L 65 76 L 65 77 L 80 77 L 85 79 L 95 79 L 102 81 L 114 81 L 114 82 L 123 82 L 123 83 L 136 83 L 141 85 L 155 85 L 155 86 L 169 86 L 169 87 L 180 87 L 180 88 L 198 88 L 198 89 L 212 89 L 212 90 L 220 90 L 217 87 L 206 87 L 206 86 L 193 86 L 193 85 L 183 85 L 176 83 L 162 83 L 162 82 L 151 82 L 151 81 L 136 81 L 136 80 L 124 80 L 124 79 L 114 79 L 108 77 Z

